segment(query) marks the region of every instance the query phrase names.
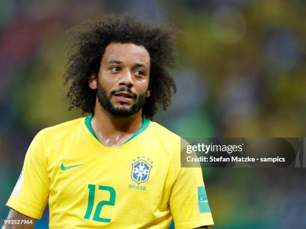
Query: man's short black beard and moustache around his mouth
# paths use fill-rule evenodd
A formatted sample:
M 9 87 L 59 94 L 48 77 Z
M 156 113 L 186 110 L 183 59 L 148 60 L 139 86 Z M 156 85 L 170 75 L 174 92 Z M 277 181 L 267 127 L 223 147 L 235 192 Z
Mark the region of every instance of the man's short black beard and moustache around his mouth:
M 120 87 L 117 90 L 112 90 L 109 93 L 109 96 L 107 96 L 106 89 L 98 82 L 98 87 L 96 90 L 96 96 L 98 99 L 98 102 L 100 105 L 112 116 L 117 117 L 129 117 L 137 113 L 144 105 L 145 99 L 146 99 L 146 92 L 140 94 L 137 96 L 135 93 L 131 91 L 129 87 L 125 89 L 126 87 Z M 132 104 L 129 108 L 120 108 L 115 107 L 111 101 L 110 98 L 113 94 L 121 91 L 127 91 L 128 93 L 132 94 L 136 102 Z M 124 102 L 120 102 L 120 104 L 124 104 Z

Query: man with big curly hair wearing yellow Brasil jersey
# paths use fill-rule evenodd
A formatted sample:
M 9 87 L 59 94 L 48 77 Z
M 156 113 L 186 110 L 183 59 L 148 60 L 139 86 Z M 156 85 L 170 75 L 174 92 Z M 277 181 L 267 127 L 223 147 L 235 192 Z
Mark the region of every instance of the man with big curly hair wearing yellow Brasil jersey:
M 150 121 L 175 92 L 173 29 L 124 14 L 73 32 L 67 98 L 91 115 L 34 137 L 8 218 L 35 222 L 48 202 L 50 228 L 212 225 L 201 169 L 180 167 L 179 136 Z

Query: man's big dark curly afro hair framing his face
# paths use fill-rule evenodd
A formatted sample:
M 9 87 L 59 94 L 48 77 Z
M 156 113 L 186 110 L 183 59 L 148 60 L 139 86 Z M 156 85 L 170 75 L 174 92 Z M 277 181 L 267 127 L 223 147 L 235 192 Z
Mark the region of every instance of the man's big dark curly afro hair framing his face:
M 171 104 L 175 82 L 168 69 L 176 66 L 172 25 L 154 26 L 127 13 L 110 14 L 102 20 L 87 20 L 70 29 L 71 50 L 64 72 L 64 84 L 71 80 L 66 99 L 82 113 L 94 114 L 96 90 L 88 86 L 88 77 L 98 75 L 106 46 L 111 42 L 142 45 L 150 55 L 151 95 L 142 107 L 143 114 L 152 119 L 158 106 L 163 110 Z

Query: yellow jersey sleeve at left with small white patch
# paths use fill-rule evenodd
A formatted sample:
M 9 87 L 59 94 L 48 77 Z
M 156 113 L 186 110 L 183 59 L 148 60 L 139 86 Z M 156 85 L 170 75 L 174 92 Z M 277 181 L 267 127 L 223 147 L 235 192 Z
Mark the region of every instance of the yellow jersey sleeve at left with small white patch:
M 24 158 L 22 171 L 6 202 L 14 210 L 41 218 L 49 195 L 49 178 L 43 152 L 42 131 L 33 138 Z

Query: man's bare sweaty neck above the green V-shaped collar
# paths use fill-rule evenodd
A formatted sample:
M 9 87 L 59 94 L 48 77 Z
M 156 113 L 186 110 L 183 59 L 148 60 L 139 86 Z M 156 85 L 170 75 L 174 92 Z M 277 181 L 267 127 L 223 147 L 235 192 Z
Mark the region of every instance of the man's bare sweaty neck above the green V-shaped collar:
M 128 140 L 142 124 L 142 110 L 129 117 L 117 117 L 95 103 L 91 127 L 97 138 L 107 146 L 118 146 Z

